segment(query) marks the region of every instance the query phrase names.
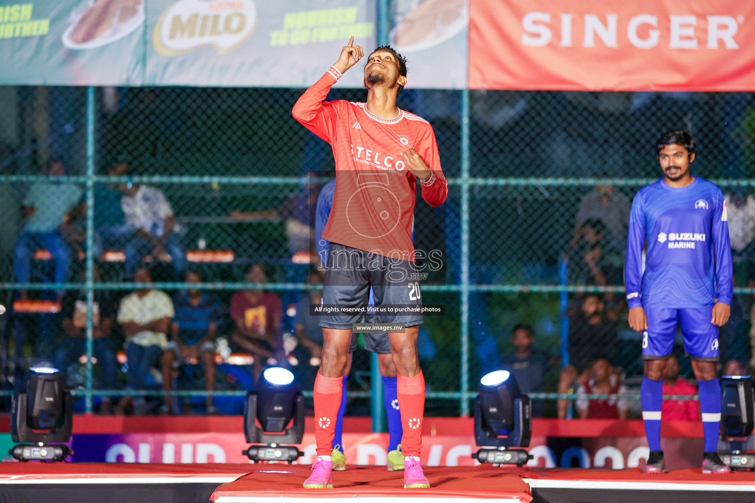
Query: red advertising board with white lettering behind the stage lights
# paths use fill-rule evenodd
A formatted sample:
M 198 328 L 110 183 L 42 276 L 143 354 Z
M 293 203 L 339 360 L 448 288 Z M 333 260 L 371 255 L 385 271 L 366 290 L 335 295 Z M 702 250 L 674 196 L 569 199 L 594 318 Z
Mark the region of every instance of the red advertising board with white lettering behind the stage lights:
M 8 417 L 0 416 L 0 431 L 8 431 Z M 535 419 L 529 452 L 531 466 L 632 468 L 648 455 L 643 422 L 584 419 Z M 314 422 L 299 449 L 309 464 L 315 455 Z M 354 465 L 384 465 L 387 434 L 370 432 L 368 418 L 344 420 L 347 461 Z M 246 462 L 243 420 L 240 416 L 97 417 L 75 416 L 74 462 L 239 463 Z M 667 468 L 699 466 L 703 451 L 700 422 L 664 422 L 661 435 Z M 426 418 L 422 462 L 428 466 L 476 464 L 471 418 Z

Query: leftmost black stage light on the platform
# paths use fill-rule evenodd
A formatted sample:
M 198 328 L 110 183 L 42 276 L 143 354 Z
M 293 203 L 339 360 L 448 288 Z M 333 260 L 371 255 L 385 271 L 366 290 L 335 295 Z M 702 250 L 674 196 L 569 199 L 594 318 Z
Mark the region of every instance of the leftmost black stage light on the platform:
M 26 373 L 24 388 L 16 391 L 11 405 L 11 435 L 20 444 L 10 454 L 20 461 L 32 459 L 62 461 L 72 451 L 64 444 L 71 438 L 73 400 L 65 389 L 60 370 L 32 367 Z

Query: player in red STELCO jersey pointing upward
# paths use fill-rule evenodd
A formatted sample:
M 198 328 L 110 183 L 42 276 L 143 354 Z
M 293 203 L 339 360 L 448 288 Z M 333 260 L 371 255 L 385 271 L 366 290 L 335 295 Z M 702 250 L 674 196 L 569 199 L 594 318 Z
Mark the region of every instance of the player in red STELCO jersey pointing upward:
M 436 207 L 448 195 L 433 127 L 396 106 L 406 84 L 406 60 L 393 48 L 369 54 L 366 103 L 323 101 L 341 75 L 365 56 L 349 44 L 325 75 L 299 98 L 294 118 L 330 143 L 336 187 L 322 238 L 331 241 L 322 290 L 324 343 L 315 380 L 317 458 L 306 488 L 332 487 L 331 442 L 341 405 L 352 325 L 364 320 L 370 287 L 378 311 L 371 320 L 396 325 L 390 344 L 404 429 L 404 487 L 430 487 L 420 465 L 424 376 L 417 354 L 422 323 L 420 285 L 411 230 L 419 182 Z

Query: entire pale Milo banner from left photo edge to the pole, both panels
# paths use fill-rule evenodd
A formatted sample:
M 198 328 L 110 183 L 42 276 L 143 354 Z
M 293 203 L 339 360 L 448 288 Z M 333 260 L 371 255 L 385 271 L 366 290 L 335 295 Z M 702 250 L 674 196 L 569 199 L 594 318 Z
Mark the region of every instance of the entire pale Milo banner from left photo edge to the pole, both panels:
M 306 87 L 351 35 L 375 47 L 375 15 L 374 0 L 2 4 L 0 84 Z

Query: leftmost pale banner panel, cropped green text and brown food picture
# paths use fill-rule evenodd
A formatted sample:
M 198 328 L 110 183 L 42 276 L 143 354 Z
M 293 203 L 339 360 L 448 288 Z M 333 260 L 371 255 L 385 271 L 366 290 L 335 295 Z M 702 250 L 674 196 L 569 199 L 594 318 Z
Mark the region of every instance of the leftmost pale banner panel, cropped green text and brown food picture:
M 0 2 L 0 84 L 140 85 L 143 0 Z

